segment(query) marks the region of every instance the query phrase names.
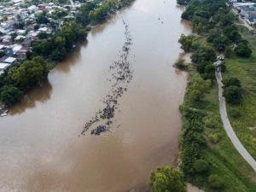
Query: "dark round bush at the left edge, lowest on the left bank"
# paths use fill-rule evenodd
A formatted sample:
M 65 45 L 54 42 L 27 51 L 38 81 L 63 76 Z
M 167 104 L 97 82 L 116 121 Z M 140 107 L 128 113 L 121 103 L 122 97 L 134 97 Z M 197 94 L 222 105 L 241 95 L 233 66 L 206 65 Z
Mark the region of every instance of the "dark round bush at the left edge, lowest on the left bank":
M 4 85 L 0 90 L 0 100 L 10 106 L 20 102 L 23 93 L 13 85 Z

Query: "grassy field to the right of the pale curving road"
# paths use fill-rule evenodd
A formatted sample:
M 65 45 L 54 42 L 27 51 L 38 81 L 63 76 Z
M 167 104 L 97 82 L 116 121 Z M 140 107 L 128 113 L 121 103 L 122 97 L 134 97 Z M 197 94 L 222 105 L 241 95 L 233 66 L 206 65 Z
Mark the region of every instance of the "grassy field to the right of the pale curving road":
M 241 28 L 241 34 L 251 44 L 253 54 L 246 59 L 232 55 L 226 60 L 224 78 L 239 79 L 243 89 L 243 102 L 237 106 L 228 105 L 228 113 L 237 137 L 256 159 L 256 34 L 245 28 Z M 234 111 L 240 115 L 232 115 Z

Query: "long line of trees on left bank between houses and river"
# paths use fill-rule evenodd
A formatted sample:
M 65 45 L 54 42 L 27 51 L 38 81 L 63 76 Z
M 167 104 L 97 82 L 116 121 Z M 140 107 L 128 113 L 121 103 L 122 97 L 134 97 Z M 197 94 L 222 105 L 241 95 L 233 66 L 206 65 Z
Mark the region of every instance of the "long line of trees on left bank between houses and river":
M 10 67 L 0 76 L 0 101 L 7 107 L 20 102 L 26 91 L 43 84 L 53 63 L 62 61 L 76 44 L 85 40 L 90 25 L 96 25 L 133 0 L 97 0 L 84 3 L 74 19 L 64 22 L 54 34 L 42 33 L 39 40 L 32 43 L 32 51 L 27 60 Z M 42 18 L 43 19 L 42 19 Z M 38 20 L 44 20 L 41 15 Z

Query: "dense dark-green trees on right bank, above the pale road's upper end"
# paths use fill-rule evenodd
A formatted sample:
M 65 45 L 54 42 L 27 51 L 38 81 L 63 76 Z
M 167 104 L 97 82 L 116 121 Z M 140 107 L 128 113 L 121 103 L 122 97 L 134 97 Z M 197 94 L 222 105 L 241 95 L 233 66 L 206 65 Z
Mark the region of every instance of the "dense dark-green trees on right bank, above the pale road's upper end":
M 230 13 L 224 0 L 191 0 L 182 18 L 191 20 L 194 32 L 207 35 L 207 42 L 218 52 L 225 52 L 235 44 L 236 55 L 249 57 L 252 54 L 252 49 L 234 24 L 235 15 Z

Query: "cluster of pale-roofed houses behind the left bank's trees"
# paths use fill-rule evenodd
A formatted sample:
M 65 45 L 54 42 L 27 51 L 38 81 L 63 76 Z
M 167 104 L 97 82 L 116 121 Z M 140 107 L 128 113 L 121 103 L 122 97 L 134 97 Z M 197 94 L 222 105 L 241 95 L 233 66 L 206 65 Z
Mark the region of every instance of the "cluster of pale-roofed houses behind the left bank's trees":
M 55 32 L 63 20 L 76 15 L 80 3 L 55 5 L 26 3 L 24 0 L 11 0 L 0 3 L 0 74 L 10 66 L 26 59 L 27 51 L 32 49 L 32 41 L 38 40 L 40 32 Z M 52 18 L 55 11 L 65 11 L 63 18 Z M 47 13 L 48 23 L 38 23 L 37 16 Z

